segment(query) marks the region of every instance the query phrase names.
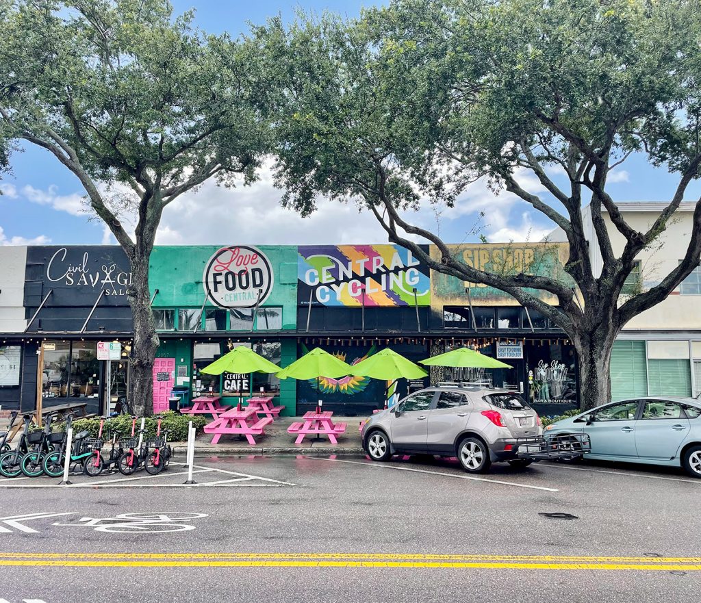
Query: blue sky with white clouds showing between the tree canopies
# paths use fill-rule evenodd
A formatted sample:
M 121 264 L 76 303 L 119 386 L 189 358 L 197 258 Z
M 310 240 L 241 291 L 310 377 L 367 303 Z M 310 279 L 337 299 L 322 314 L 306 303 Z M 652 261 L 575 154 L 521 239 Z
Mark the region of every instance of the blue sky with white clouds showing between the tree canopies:
M 349 17 L 362 6 L 382 0 L 173 0 L 176 13 L 196 10 L 196 23 L 210 32 L 238 34 L 247 22 L 263 22 L 280 13 L 289 20 L 296 8 L 334 11 Z M 85 212 L 84 191 L 75 177 L 35 147 L 11 159 L 13 173 L 0 181 L 0 245 L 115 244 L 100 220 Z M 562 176 L 554 173 L 556 181 Z M 533 177 L 525 176 L 529 191 L 543 193 Z M 561 180 L 564 185 L 564 181 Z M 654 169 L 641 156 L 632 156 L 608 180 L 616 201 L 667 201 L 676 180 L 664 168 Z M 701 184 L 688 191 L 688 200 L 701 194 Z M 372 214 L 354 205 L 320 201 L 318 210 L 301 218 L 280 206 L 282 191 L 273 187 L 271 170 L 261 171 L 250 187 L 223 189 L 208 182 L 184 194 L 163 212 L 158 245 L 260 245 L 385 243 L 386 233 Z M 484 219 L 479 219 L 484 212 Z M 475 240 L 475 226 L 490 242 L 537 241 L 554 229 L 540 212 L 505 192 L 495 195 L 477 182 L 454 208 L 423 208 L 409 212 L 409 222 L 438 231 L 449 243 Z

